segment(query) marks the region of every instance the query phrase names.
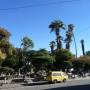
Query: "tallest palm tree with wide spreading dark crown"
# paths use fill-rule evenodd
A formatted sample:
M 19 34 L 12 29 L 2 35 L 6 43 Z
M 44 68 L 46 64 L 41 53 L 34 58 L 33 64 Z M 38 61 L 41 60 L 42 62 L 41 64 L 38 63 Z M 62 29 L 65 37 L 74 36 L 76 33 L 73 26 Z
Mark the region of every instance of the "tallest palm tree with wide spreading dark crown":
M 62 48 L 62 41 L 61 41 L 61 35 L 60 35 L 60 29 L 65 29 L 64 23 L 60 20 L 55 20 L 49 25 L 49 28 L 51 28 L 51 32 L 55 32 L 56 34 L 56 42 L 57 42 L 57 49 Z

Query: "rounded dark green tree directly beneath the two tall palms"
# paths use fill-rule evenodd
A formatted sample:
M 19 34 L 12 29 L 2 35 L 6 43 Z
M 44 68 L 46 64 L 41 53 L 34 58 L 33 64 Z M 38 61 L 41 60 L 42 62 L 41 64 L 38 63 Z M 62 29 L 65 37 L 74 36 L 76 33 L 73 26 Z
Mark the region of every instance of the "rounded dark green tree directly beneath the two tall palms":
M 55 52 L 55 62 L 54 65 L 56 67 L 56 70 L 64 69 L 66 68 L 66 65 L 70 65 L 68 62 L 71 61 L 73 58 L 73 54 L 68 51 L 67 49 L 60 49 Z

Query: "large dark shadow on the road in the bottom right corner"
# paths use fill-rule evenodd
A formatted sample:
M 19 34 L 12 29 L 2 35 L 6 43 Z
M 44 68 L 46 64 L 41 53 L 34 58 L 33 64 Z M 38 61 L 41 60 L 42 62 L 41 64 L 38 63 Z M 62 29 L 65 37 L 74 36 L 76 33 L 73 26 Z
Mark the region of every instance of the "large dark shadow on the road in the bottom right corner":
M 45 90 L 90 90 L 90 84 L 89 85 L 57 87 L 57 88 L 51 88 L 51 89 L 45 89 Z

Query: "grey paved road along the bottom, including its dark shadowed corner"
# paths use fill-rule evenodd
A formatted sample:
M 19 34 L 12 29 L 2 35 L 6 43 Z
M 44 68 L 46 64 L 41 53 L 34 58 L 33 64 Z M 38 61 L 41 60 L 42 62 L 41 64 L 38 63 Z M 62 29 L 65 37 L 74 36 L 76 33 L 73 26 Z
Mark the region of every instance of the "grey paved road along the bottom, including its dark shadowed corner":
M 90 78 L 83 80 L 67 81 L 66 83 L 43 84 L 43 85 L 22 85 L 0 90 L 90 90 Z

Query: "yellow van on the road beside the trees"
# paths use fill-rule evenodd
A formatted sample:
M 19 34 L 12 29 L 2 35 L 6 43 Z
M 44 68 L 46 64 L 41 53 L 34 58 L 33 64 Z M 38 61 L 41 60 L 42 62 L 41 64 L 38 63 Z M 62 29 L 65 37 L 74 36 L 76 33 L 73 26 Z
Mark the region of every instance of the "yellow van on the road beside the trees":
M 68 75 L 62 71 L 52 71 L 49 72 L 46 80 L 49 82 L 65 82 L 68 79 Z

